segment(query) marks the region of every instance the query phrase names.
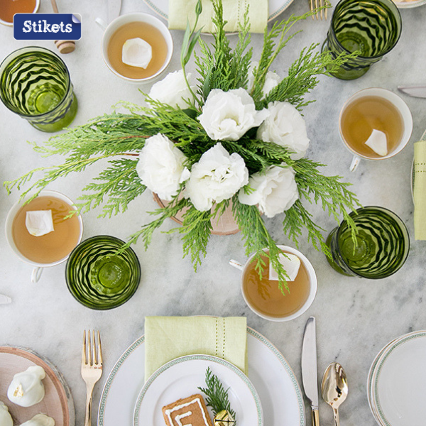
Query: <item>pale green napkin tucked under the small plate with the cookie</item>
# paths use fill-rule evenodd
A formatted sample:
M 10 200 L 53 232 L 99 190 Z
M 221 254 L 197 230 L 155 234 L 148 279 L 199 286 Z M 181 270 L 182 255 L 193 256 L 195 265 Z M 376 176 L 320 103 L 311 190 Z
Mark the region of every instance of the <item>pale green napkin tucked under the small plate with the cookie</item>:
M 145 381 L 185 355 L 218 356 L 247 373 L 245 317 L 146 317 Z

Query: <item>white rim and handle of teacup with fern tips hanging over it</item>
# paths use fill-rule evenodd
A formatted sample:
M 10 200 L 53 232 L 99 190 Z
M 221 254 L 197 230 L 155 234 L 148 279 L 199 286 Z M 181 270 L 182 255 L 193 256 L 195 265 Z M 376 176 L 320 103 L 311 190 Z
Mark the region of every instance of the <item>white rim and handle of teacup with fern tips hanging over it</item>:
M 317 275 L 315 274 L 314 268 L 312 266 L 312 264 L 310 263 L 310 261 L 302 254 L 300 253 L 300 251 L 293 249 L 292 247 L 288 247 L 288 246 L 278 246 L 279 249 L 281 249 L 282 251 L 284 251 L 285 253 L 290 253 L 290 254 L 294 254 L 295 256 L 297 256 L 300 259 L 300 262 L 303 264 L 303 266 L 305 266 L 305 270 L 307 273 L 307 277 L 309 280 L 309 289 L 307 290 L 307 297 L 305 299 L 305 302 L 302 302 L 302 305 L 300 307 L 297 308 L 297 310 L 295 310 L 293 313 L 291 313 L 290 315 L 283 315 L 283 316 L 272 316 L 272 315 L 267 315 L 265 312 L 261 312 L 260 310 L 258 310 L 258 308 L 256 306 L 254 306 L 249 298 L 246 295 L 245 292 L 245 286 L 244 286 L 244 278 L 246 276 L 246 271 L 247 268 L 249 267 L 253 257 L 255 256 L 254 254 L 252 256 L 250 256 L 249 260 L 246 261 L 246 263 L 244 265 L 241 265 L 241 263 L 231 260 L 229 261 L 229 264 L 231 266 L 234 266 L 234 268 L 238 268 L 242 271 L 241 274 L 241 293 L 244 297 L 244 300 L 247 304 L 247 306 L 249 306 L 249 308 L 259 317 L 262 317 L 264 320 L 269 320 L 269 321 L 275 321 L 275 322 L 283 322 L 283 321 L 290 321 L 290 320 L 294 320 L 297 317 L 300 317 L 300 315 L 302 315 L 304 312 L 307 311 L 307 309 L 310 307 L 310 305 L 312 305 L 312 302 L 315 299 L 315 295 L 317 294 Z M 256 272 L 257 273 L 257 272 Z M 290 283 L 291 284 L 291 283 Z M 278 280 L 277 281 L 271 281 L 271 285 L 276 285 L 278 288 Z M 283 300 L 285 300 L 285 297 L 290 297 L 291 296 L 291 289 L 290 289 L 290 295 L 288 293 L 286 293 L 286 295 L 281 295 L 283 297 Z

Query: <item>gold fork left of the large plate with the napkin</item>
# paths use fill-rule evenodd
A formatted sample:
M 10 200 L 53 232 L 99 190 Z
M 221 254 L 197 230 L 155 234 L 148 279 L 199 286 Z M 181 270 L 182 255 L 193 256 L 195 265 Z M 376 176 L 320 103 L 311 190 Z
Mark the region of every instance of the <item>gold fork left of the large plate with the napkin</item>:
M 87 335 L 86 335 L 87 334 Z M 86 382 L 86 418 L 84 426 L 92 426 L 92 393 L 95 383 L 102 376 L 101 336 L 97 332 L 97 344 L 94 330 L 84 330 L 82 350 L 82 378 Z

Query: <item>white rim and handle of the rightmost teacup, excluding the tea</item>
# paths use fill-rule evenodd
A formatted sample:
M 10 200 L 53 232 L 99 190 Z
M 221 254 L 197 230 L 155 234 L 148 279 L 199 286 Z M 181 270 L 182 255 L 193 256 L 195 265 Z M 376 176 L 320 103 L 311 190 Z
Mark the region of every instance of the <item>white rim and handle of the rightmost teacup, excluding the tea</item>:
M 398 145 L 395 146 L 395 148 L 393 148 L 393 150 L 388 153 L 388 155 L 383 155 L 381 157 L 369 157 L 368 155 L 364 155 L 362 153 L 357 152 L 353 147 L 349 145 L 349 143 L 347 143 L 344 138 L 342 130 L 342 116 L 344 114 L 344 111 L 346 111 L 346 108 L 352 102 L 364 97 L 380 97 L 382 99 L 385 99 L 386 101 L 391 102 L 391 104 L 393 104 L 393 106 L 400 113 L 401 119 L 403 121 L 403 134 L 400 137 Z M 395 94 L 387 89 L 382 89 L 381 87 L 371 87 L 356 92 L 345 102 L 344 106 L 342 107 L 342 110 L 340 111 L 339 131 L 344 145 L 346 146 L 346 148 L 349 149 L 349 151 L 351 151 L 351 153 L 354 154 L 351 165 L 349 166 L 349 170 L 351 170 L 351 172 L 354 172 L 358 167 L 359 163 L 361 162 L 361 158 L 365 158 L 366 160 L 386 160 L 386 158 L 391 158 L 393 157 L 393 155 L 398 154 L 407 145 L 408 141 L 410 141 L 410 136 L 413 132 L 413 116 L 411 115 L 411 111 L 408 108 L 407 104 L 405 104 L 403 99 L 401 99 L 398 94 Z

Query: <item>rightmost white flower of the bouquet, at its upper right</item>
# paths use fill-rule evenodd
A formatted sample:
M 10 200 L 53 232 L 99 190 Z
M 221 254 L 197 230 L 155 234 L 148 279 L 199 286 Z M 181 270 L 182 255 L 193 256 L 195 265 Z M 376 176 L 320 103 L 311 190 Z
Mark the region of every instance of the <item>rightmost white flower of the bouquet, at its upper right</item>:
M 290 155 L 293 160 L 300 160 L 305 156 L 310 142 L 300 112 L 289 102 L 271 102 L 268 111 L 268 117 L 258 128 L 258 139 L 285 146 L 293 151 Z

